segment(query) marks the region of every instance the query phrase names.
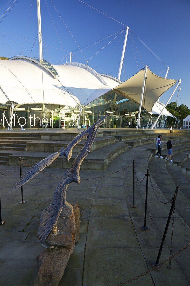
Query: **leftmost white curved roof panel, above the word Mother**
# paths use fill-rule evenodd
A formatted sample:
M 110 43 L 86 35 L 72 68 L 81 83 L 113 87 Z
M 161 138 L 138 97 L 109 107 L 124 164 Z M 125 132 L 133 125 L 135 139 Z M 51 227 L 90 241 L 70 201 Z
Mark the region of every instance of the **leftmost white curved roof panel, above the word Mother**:
M 70 95 L 56 78 L 45 69 L 25 59 L 0 61 L 0 102 L 14 101 L 18 104 L 60 104 L 76 106 L 79 100 Z M 43 81 L 42 81 L 43 78 Z M 44 86 L 44 93 L 43 93 Z

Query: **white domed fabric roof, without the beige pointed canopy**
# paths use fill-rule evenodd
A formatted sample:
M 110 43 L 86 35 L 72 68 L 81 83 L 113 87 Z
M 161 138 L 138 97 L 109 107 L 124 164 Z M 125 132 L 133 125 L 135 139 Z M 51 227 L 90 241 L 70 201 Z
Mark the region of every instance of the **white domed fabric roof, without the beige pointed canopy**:
M 0 61 L 0 86 L 9 100 L 18 104 L 87 105 L 120 83 L 79 63 L 52 65 L 59 75 L 56 79 L 28 59 L 20 56 Z M 0 90 L 1 104 L 9 101 L 5 94 Z

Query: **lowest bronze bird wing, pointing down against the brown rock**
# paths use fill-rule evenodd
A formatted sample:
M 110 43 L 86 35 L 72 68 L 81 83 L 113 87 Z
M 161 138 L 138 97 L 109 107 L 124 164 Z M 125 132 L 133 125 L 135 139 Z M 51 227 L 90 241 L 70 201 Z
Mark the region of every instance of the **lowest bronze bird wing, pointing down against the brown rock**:
M 40 242 L 44 242 L 48 235 L 51 233 L 54 225 L 56 224 L 60 213 L 62 211 L 63 205 L 65 203 L 65 194 L 68 184 L 72 180 L 66 177 L 54 190 L 50 208 L 48 210 L 48 215 L 45 219 L 45 223 L 42 226 L 40 233 L 38 234 L 38 239 Z

